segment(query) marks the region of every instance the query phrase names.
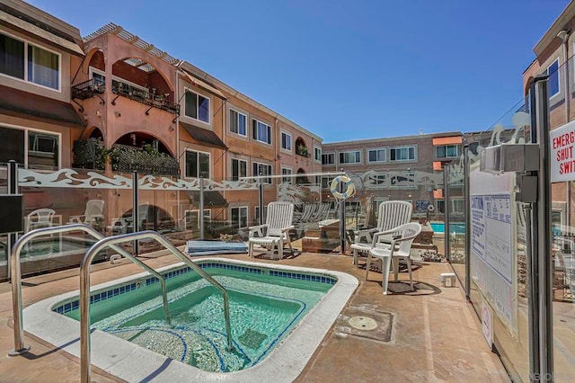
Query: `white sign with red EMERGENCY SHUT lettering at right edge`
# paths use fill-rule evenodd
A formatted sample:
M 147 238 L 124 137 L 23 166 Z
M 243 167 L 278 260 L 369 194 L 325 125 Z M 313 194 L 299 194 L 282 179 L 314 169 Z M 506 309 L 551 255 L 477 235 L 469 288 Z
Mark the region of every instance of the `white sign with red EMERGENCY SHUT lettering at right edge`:
M 575 121 L 549 132 L 551 182 L 575 180 Z

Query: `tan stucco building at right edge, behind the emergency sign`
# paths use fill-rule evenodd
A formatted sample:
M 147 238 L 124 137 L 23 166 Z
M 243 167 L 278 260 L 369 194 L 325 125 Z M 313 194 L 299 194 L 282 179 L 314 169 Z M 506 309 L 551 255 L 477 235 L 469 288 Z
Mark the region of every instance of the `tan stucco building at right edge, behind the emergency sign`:
M 575 119 L 575 2 L 570 2 L 555 22 L 537 42 L 533 51 L 535 60 L 523 73 L 525 96 L 529 94 L 531 80 L 537 75 L 549 75 L 550 129 Z M 562 225 L 563 231 L 573 234 L 572 183 L 553 183 L 553 225 Z M 568 207 L 571 206 L 571 209 Z

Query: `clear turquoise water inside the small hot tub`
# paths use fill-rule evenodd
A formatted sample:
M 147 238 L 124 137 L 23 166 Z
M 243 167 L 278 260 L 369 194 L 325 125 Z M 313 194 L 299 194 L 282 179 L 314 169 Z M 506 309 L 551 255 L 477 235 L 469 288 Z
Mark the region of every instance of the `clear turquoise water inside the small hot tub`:
M 201 370 L 237 371 L 262 361 L 332 287 L 228 269 L 206 271 L 228 289 L 234 350 L 226 347 L 224 299 L 195 272 L 166 280 L 172 325 L 165 321 L 160 284 L 154 283 L 94 301 L 92 326 Z M 79 313 L 65 315 L 77 319 Z

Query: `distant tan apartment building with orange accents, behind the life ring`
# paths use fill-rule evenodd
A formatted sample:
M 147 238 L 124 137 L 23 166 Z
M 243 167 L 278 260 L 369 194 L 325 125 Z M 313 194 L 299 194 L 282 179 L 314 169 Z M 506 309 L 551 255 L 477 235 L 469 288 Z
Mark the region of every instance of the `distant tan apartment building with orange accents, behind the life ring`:
M 444 212 L 443 166 L 462 155 L 461 132 L 324 143 L 323 172 L 352 174 L 364 199 L 409 200 L 416 214 Z M 327 179 L 323 194 L 329 199 Z M 456 209 L 463 211 L 461 206 Z

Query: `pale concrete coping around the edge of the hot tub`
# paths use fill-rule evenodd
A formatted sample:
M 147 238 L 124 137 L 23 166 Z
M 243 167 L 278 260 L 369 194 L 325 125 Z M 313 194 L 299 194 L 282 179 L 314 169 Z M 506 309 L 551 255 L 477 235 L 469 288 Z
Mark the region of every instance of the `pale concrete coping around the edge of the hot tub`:
M 118 337 L 95 330 L 92 334 L 92 363 L 94 366 L 111 373 L 119 379 L 127 381 L 293 381 L 305 368 L 305 364 L 320 345 L 323 337 L 343 307 L 358 287 L 358 280 L 344 272 L 291 267 L 284 265 L 269 265 L 249 263 L 221 258 L 202 259 L 197 263 L 226 263 L 233 267 L 252 268 L 278 273 L 282 278 L 324 278 L 324 283 L 335 281 L 332 289 L 313 307 L 268 358 L 256 366 L 242 371 L 217 373 L 199 370 L 193 366 L 172 361 L 163 355 L 146 350 L 134 343 L 126 342 Z M 158 272 L 173 272 L 173 269 L 185 267 L 182 263 L 159 269 Z M 146 272 L 122 278 L 116 281 L 94 286 L 92 290 L 113 291 L 118 286 L 130 285 L 134 281 L 150 278 Z M 329 281 L 328 281 L 329 280 Z M 320 280 L 321 281 L 321 280 Z M 79 324 L 74 319 L 62 316 L 53 311 L 64 301 L 72 305 L 77 300 L 79 291 L 62 294 L 44 299 L 31 307 L 24 309 L 24 330 L 40 339 L 61 347 L 62 350 L 79 357 Z M 119 293 L 119 291 L 118 291 Z M 137 355 L 135 358 L 134 355 Z

